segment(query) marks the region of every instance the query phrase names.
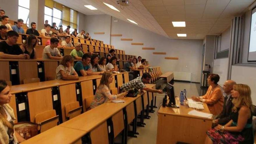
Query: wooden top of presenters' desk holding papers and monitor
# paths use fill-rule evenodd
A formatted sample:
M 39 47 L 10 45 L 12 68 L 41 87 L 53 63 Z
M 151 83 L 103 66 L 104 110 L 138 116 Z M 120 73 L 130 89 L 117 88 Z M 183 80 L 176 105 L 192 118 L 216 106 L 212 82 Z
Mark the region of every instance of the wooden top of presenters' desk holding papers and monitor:
M 204 113 L 210 113 L 208 106 L 206 103 L 203 103 L 204 105 L 204 110 L 202 110 L 201 112 Z M 189 118 L 198 118 L 198 119 L 204 119 L 204 120 L 212 120 L 209 118 L 202 118 L 202 117 L 198 117 L 198 116 L 194 116 L 194 115 L 190 115 L 188 114 L 189 111 L 192 111 L 194 109 L 189 108 L 189 106 L 187 104 L 179 105 L 179 108 L 170 108 L 170 107 L 160 107 L 158 113 L 159 114 L 165 114 L 165 115 L 179 115 L 182 117 L 189 117 Z M 199 110 L 197 110 L 199 111 Z

